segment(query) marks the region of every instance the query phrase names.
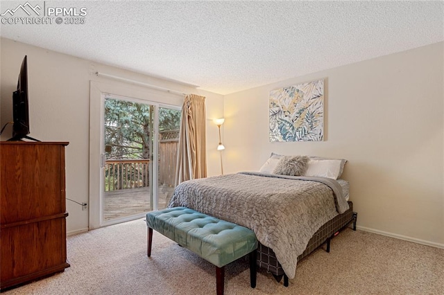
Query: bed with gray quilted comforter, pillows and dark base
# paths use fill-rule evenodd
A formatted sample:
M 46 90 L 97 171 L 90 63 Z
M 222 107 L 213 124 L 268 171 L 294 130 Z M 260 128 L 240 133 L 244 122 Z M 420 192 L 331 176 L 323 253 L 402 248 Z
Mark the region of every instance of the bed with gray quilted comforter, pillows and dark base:
M 252 229 L 259 240 L 257 265 L 278 281 L 284 277 L 287 286 L 297 262 L 355 221 L 356 214 L 348 202 L 348 181 L 338 179 L 345 160 L 332 169 L 330 162 L 318 163 L 330 159 L 304 158 L 302 170 L 275 173 L 288 158 L 283 157 L 272 154 L 259 172 L 182 182 L 169 207 L 185 206 Z M 333 174 L 326 175 L 325 168 Z

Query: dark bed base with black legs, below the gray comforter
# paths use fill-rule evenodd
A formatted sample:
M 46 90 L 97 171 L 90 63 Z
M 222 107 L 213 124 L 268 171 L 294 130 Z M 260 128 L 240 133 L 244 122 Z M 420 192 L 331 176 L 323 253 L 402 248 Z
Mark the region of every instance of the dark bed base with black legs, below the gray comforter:
M 347 211 L 342 214 L 336 215 L 332 220 L 321 226 L 316 233 L 311 237 L 307 244 L 305 251 L 298 256 L 298 262 L 303 258 L 309 256 L 311 252 L 321 247 L 324 243 L 327 243 L 327 252 L 330 252 L 330 240 L 339 233 L 342 229 L 345 229 L 349 224 L 353 223 L 353 231 L 356 231 L 357 213 L 353 212 L 353 203 L 348 202 Z M 288 287 L 289 277 L 284 273 L 284 269 L 280 265 L 278 258 L 272 249 L 265 247 L 259 243 L 257 247 L 257 266 L 265 268 L 268 272 L 273 274 L 275 279 L 280 282 L 284 277 L 284 286 Z

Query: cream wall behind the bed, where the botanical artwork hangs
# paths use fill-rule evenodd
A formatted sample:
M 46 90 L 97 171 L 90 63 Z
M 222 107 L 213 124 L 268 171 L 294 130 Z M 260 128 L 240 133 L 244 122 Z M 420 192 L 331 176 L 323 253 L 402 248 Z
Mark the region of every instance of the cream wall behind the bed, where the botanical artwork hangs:
M 271 152 L 348 159 L 361 229 L 444 247 L 443 43 L 224 97 L 225 169 Z M 325 141 L 270 143 L 269 91 L 325 79 Z

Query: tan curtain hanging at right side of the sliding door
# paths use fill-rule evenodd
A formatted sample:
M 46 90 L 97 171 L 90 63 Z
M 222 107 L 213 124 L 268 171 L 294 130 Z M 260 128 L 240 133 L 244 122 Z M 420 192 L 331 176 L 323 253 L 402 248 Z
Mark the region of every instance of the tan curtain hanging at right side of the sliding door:
M 189 179 L 207 177 L 205 96 L 185 96 L 180 118 L 176 186 Z

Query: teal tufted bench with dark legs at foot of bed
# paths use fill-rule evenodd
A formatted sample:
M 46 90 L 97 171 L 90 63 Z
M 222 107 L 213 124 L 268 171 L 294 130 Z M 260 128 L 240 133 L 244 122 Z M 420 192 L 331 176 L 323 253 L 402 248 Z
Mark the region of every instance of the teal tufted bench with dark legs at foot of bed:
M 146 225 L 148 257 L 151 256 L 154 229 L 216 265 L 216 290 L 219 295 L 223 294 L 225 265 L 250 254 L 250 285 L 256 287 L 257 239 L 250 229 L 185 207 L 149 212 L 146 214 Z

